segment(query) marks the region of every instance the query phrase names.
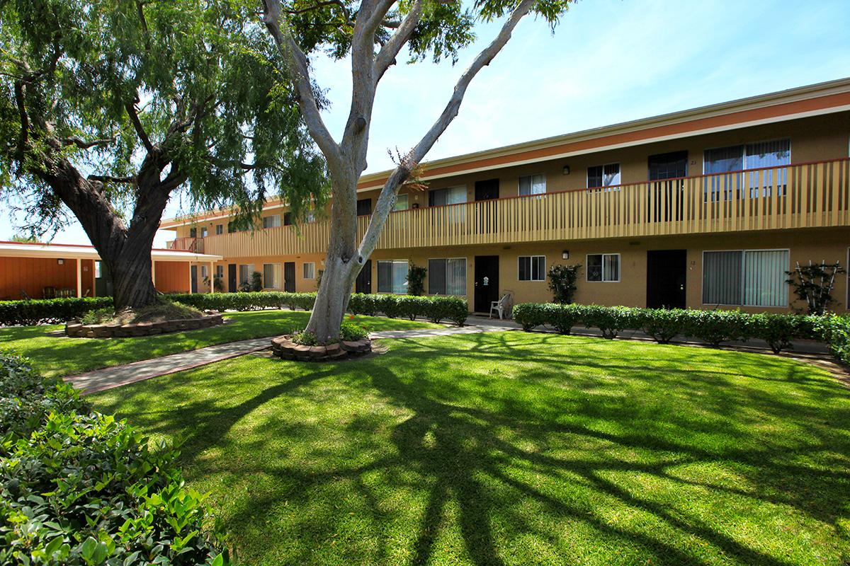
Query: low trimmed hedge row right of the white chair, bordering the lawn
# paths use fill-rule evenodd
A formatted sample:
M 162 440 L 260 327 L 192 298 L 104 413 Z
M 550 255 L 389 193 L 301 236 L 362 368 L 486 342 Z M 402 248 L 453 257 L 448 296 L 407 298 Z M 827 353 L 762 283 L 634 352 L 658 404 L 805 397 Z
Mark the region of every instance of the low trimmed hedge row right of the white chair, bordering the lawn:
M 660 344 L 667 344 L 678 335 L 700 339 L 713 346 L 757 338 L 765 340 L 777 354 L 791 348 L 794 339 L 824 339 L 834 351 L 846 352 L 844 355 L 850 360 L 850 339 L 847 338 L 850 319 L 833 317 L 839 322 L 830 322 L 827 326 L 834 328 L 832 334 L 835 338 L 826 339 L 825 323 L 819 322 L 819 318 L 795 314 L 554 303 L 521 303 L 513 307 L 514 321 L 527 332 L 547 325 L 558 333 L 567 334 L 571 327 L 583 323 L 587 328 L 598 328 L 607 339 L 615 338 L 623 330 L 642 330 Z

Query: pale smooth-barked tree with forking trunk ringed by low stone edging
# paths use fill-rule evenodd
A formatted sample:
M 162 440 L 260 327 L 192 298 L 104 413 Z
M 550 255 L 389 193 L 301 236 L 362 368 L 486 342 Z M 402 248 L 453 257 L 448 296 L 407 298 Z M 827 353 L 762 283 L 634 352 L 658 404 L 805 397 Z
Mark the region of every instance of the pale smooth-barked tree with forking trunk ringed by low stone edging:
M 570 0 L 263 0 L 263 20 L 280 48 L 309 133 L 325 155 L 331 177 L 331 238 L 319 295 L 307 330 L 336 339 L 354 279 L 375 249 L 396 195 L 458 113 L 464 94 L 510 39 L 525 15 L 552 28 Z M 419 143 L 403 154 L 384 183 L 369 226 L 357 238 L 357 182 L 366 168 L 372 108 L 379 81 L 405 47 L 413 61 L 450 58 L 473 42 L 478 20 L 503 19 L 496 37 L 458 79 L 445 109 Z M 309 55 L 324 50 L 351 60 L 352 97 L 342 137 L 331 136 L 320 115 Z

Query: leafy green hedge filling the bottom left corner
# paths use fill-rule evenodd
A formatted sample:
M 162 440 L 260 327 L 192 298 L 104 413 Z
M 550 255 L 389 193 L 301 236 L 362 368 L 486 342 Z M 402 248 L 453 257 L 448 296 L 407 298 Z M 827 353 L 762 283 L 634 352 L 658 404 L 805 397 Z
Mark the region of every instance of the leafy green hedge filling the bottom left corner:
M 0 563 L 227 562 L 177 453 L 0 356 Z

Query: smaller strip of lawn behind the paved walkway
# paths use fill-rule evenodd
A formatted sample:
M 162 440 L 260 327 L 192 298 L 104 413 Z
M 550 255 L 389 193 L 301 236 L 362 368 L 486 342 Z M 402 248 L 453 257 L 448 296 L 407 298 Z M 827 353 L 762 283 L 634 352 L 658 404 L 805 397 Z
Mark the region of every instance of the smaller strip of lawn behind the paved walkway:
M 229 323 L 223 326 L 145 338 L 84 339 L 51 336 L 50 333 L 65 328 L 59 324 L 0 328 L 0 352 L 31 357 L 39 371 L 48 376 L 72 375 L 234 340 L 277 336 L 294 328 L 303 328 L 309 314 L 307 311 L 229 312 L 224 315 L 230 319 Z M 385 317 L 356 317 L 356 320 L 370 330 L 437 326 L 431 322 Z

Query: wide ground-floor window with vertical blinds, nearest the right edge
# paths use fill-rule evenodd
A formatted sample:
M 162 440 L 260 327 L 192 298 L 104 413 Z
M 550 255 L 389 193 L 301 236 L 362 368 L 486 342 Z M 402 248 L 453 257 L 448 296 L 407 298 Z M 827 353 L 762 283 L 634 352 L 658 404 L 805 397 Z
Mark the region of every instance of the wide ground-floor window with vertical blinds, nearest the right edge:
M 727 249 L 702 255 L 704 305 L 787 306 L 787 249 Z

